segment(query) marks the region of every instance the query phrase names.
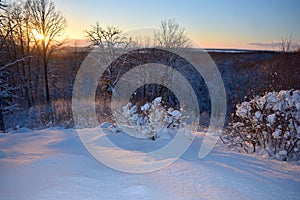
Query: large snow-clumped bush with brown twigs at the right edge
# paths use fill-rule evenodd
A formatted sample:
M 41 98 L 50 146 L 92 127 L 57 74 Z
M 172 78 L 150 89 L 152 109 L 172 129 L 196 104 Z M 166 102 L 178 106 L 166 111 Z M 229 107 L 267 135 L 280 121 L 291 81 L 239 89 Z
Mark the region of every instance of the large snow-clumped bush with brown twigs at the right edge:
M 246 152 L 300 159 L 300 90 L 269 92 L 236 106 L 221 139 Z

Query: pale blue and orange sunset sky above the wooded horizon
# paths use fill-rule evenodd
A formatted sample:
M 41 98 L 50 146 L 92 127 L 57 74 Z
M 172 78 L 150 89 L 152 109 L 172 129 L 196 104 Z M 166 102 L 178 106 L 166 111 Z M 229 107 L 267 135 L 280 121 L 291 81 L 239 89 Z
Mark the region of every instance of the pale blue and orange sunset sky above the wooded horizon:
M 300 44 L 298 0 L 53 0 L 69 38 L 84 38 L 96 21 L 123 31 L 175 19 L 205 48 L 274 49 L 290 35 Z M 273 44 L 271 45 L 271 42 Z

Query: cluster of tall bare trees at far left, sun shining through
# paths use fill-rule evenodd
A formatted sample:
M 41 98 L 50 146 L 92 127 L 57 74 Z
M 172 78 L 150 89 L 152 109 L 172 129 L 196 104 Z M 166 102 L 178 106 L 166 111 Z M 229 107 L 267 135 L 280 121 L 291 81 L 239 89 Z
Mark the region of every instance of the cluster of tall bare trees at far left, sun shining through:
M 66 27 L 48 0 L 0 1 L 0 129 L 3 114 L 50 103 L 49 68 Z

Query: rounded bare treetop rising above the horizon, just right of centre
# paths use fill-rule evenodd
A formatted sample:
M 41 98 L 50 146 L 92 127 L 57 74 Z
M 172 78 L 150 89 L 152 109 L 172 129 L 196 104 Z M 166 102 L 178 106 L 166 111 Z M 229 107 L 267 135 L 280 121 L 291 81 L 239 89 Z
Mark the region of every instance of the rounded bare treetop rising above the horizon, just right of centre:
M 190 46 L 185 28 L 179 26 L 175 19 L 164 20 L 158 31 L 154 32 L 158 46 L 164 48 L 184 48 Z

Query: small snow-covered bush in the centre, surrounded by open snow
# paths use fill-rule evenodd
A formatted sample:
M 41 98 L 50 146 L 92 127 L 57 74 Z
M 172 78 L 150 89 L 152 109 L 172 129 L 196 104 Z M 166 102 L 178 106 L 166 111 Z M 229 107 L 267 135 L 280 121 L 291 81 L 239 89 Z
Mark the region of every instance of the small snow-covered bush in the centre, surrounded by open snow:
M 181 123 L 181 112 L 173 108 L 168 110 L 161 104 L 162 97 L 155 98 L 142 106 L 128 103 L 118 113 L 118 123 L 136 132 L 137 137 L 155 139 L 163 127 L 178 128 Z

